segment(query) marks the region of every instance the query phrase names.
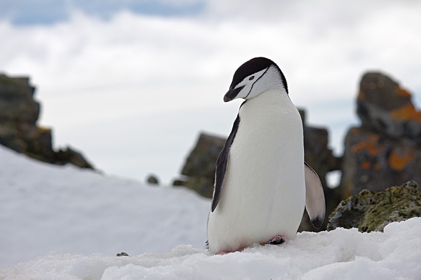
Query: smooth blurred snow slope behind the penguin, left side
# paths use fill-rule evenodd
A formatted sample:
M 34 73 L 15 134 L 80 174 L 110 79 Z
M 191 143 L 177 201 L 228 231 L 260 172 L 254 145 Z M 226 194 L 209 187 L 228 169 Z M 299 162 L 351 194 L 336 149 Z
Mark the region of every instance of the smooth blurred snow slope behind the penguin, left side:
M 209 199 L 186 188 L 41 163 L 0 145 L 0 266 L 49 251 L 115 256 L 202 247 L 209 209 Z

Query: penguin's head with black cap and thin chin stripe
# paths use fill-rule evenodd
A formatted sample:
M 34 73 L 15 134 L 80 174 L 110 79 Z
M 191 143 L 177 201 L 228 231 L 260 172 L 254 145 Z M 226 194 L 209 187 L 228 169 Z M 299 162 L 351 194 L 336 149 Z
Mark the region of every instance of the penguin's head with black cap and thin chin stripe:
M 271 59 L 255 57 L 235 71 L 224 102 L 236 98 L 251 99 L 268 89 L 280 89 L 288 94 L 285 76 Z

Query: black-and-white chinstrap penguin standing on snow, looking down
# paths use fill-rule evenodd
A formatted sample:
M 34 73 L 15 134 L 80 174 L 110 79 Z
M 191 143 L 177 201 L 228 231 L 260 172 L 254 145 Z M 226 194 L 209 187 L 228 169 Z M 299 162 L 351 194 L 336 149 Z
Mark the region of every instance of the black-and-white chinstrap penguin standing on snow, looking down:
M 301 117 L 278 65 L 265 57 L 242 64 L 223 101 L 237 98 L 245 101 L 216 162 L 211 254 L 293 239 L 304 207 L 317 229 L 325 215 L 320 179 L 304 162 Z

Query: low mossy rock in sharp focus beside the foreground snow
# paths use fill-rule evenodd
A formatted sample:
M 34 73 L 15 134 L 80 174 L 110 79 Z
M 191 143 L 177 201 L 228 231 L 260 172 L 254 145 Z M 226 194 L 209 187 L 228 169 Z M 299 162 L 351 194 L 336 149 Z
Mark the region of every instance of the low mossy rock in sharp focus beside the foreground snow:
M 340 202 L 329 216 L 327 230 L 358 228 L 382 231 L 392 222 L 421 216 L 421 193 L 414 181 L 382 192 L 362 190 Z

